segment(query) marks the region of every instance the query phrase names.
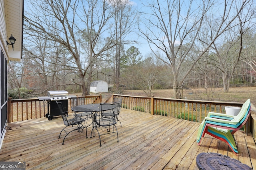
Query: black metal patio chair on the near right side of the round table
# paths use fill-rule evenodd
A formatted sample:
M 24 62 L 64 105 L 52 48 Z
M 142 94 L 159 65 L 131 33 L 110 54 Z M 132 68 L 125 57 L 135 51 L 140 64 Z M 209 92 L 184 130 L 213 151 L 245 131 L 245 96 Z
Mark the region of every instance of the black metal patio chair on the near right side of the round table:
M 115 102 L 115 103 L 100 103 L 100 111 L 95 115 L 94 117 L 94 128 L 97 130 L 99 138 L 100 138 L 100 133 L 98 131 L 99 127 L 105 127 L 107 129 L 107 133 L 101 134 L 101 135 L 106 135 L 110 133 L 116 133 L 117 134 L 117 142 L 118 140 L 118 131 L 116 128 L 116 123 L 118 121 L 118 114 L 116 114 L 113 110 L 116 107 L 119 107 L 120 102 Z M 104 115 L 104 113 L 106 113 Z M 112 132 L 110 132 L 110 127 L 112 126 Z M 109 127 L 109 129 L 108 129 Z M 116 131 L 114 131 L 114 127 L 116 128 Z M 93 130 L 93 129 L 92 129 Z M 91 132 L 91 137 L 92 137 L 92 132 Z M 101 140 L 100 140 L 100 147 L 101 147 Z

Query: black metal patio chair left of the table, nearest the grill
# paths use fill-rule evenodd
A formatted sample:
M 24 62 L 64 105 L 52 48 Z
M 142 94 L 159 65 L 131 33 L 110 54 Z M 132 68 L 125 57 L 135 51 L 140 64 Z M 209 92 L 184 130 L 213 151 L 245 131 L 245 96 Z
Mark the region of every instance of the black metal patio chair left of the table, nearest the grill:
M 63 119 L 63 121 L 64 121 L 64 125 L 66 125 L 66 127 L 68 127 L 68 126 L 73 126 L 73 125 L 77 125 L 77 128 L 76 128 L 76 129 L 73 129 L 72 131 L 76 131 L 76 130 L 77 130 L 78 132 L 81 132 L 81 129 L 84 128 L 83 125 L 82 125 L 82 123 L 83 123 L 85 120 L 82 119 L 82 117 L 80 117 L 80 116 L 75 116 L 75 117 L 72 118 L 72 119 L 67 119 L 67 111 L 64 111 L 64 108 L 63 108 L 62 103 L 61 103 L 61 102 L 58 102 L 58 101 L 56 101 L 56 103 L 57 103 L 57 106 L 58 106 L 59 109 L 60 109 L 60 113 L 61 113 L 62 119 Z M 67 132 L 67 131 L 65 130 L 66 127 L 64 127 L 64 128 L 62 129 L 62 131 L 64 131 L 64 132 L 66 133 L 66 136 L 67 136 L 67 135 L 68 135 L 70 132 L 72 132 L 72 131 Z M 60 135 L 61 135 L 62 131 L 60 132 Z M 60 139 L 60 135 L 59 135 L 59 139 Z M 86 135 L 87 135 L 87 134 L 86 134 Z M 63 139 L 62 145 L 64 145 L 64 141 L 65 141 L 66 136 L 65 136 L 64 139 Z

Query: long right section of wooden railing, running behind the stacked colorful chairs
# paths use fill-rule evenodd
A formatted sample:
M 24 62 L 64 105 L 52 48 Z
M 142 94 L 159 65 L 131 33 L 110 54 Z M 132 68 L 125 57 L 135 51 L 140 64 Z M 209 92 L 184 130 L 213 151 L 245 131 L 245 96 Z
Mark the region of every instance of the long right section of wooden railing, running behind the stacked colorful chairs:
M 210 111 L 225 113 L 225 106 L 241 107 L 243 105 L 243 103 L 233 102 L 154 98 L 154 96 L 141 97 L 118 94 L 113 94 L 106 102 L 112 101 L 114 96 L 122 97 L 122 107 L 127 109 L 197 122 L 201 122 Z

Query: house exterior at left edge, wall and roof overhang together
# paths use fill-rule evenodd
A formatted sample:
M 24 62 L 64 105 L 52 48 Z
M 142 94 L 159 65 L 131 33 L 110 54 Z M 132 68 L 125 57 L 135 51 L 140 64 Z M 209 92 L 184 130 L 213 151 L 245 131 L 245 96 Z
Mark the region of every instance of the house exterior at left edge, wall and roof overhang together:
M 14 51 L 6 45 L 9 37 L 16 39 Z M 7 124 L 7 64 L 20 61 L 23 35 L 23 0 L 0 0 L 0 148 Z

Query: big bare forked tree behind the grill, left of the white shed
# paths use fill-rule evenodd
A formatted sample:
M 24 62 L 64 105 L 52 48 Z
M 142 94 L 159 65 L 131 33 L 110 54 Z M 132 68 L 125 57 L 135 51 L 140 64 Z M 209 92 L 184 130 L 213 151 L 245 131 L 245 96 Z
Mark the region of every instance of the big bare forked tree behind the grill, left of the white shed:
M 86 95 L 89 94 L 93 65 L 107 49 L 116 45 L 112 33 L 113 12 L 107 0 L 30 1 L 24 26 L 31 34 L 56 42 L 68 51 L 70 64 L 66 66 L 78 75 L 78 80 L 72 81 L 82 86 L 83 95 Z

